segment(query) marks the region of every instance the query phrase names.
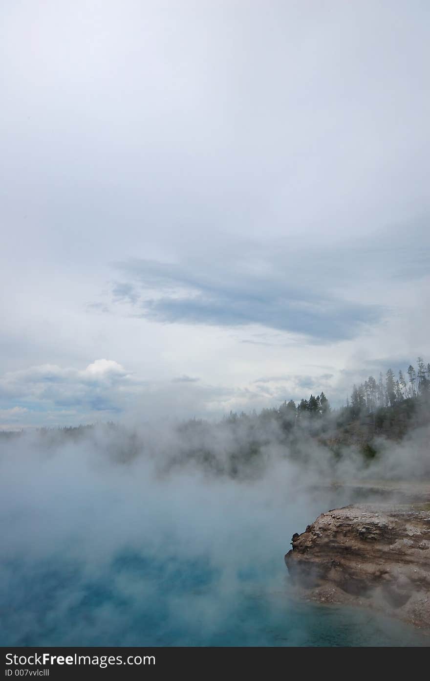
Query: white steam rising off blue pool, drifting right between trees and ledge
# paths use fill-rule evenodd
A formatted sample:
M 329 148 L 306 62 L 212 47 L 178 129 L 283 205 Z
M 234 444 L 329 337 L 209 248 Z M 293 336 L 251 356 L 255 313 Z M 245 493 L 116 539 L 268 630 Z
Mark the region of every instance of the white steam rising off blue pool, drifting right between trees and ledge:
M 226 645 L 239 626 L 252 645 L 270 609 L 300 644 L 291 536 L 354 501 L 354 486 L 422 474 L 428 435 L 381 443 L 371 464 L 354 449 L 335 460 L 305 430 L 287 442 L 271 422 L 1 437 L 1 642 L 190 645 L 204 632 L 203 644 Z M 253 614 L 238 625 L 244 601 Z

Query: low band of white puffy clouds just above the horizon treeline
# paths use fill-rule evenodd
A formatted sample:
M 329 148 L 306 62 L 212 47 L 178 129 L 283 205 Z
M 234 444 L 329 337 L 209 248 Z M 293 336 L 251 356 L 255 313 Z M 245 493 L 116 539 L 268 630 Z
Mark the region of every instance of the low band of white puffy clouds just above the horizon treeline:
M 308 390 L 327 391 L 331 374 L 316 377 L 263 377 L 248 385 L 208 383 L 186 374 L 148 381 L 114 360 L 99 359 L 84 369 L 33 366 L 0 377 L 3 428 L 80 424 L 121 419 L 128 424 L 150 420 L 177 422 L 190 417 L 219 419 L 229 411 L 263 409 L 298 400 Z

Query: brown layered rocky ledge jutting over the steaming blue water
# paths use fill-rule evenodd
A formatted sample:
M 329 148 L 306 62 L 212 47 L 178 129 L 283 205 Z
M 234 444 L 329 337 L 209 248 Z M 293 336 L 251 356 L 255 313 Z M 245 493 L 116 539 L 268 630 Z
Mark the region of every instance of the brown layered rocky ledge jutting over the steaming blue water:
M 352 505 L 321 513 L 285 556 L 299 590 L 430 628 L 430 507 Z

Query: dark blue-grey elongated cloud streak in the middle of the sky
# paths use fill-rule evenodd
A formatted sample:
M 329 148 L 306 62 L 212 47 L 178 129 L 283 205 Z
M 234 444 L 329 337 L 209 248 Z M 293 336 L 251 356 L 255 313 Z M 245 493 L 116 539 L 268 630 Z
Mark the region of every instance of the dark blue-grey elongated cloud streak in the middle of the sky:
M 281 272 L 270 261 L 269 271 L 263 274 L 242 272 L 243 265 L 234 259 L 226 268 L 214 264 L 204 274 L 193 264 L 135 259 L 117 266 L 133 281 L 122 288 L 133 289 L 133 298 L 127 300 L 135 314 L 153 321 L 233 327 L 259 324 L 329 342 L 350 338 L 363 324 L 381 316 L 377 305 L 295 287 L 293 273 Z

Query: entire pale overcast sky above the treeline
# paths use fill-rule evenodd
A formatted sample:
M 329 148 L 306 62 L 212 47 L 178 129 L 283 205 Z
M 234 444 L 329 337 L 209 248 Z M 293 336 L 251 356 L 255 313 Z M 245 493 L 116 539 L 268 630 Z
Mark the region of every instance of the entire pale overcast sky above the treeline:
M 425 0 L 3 0 L 0 427 L 430 360 Z

